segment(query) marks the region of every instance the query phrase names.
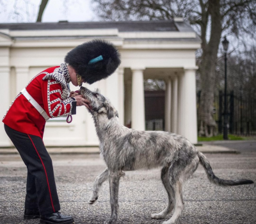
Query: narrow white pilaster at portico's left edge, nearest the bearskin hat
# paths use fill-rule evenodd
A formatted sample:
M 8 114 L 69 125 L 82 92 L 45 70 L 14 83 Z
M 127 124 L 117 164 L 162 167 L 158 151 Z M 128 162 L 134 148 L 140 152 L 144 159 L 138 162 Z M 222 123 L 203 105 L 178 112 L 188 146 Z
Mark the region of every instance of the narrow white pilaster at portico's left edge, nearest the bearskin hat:
M 120 124 L 124 125 L 124 68 L 118 70 L 118 116 Z

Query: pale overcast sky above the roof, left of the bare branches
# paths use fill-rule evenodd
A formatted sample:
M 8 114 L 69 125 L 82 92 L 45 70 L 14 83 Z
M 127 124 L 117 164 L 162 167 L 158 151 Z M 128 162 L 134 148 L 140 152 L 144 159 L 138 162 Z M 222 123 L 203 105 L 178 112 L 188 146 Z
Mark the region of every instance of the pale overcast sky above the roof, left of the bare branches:
M 0 23 L 36 22 L 41 0 L 0 0 Z M 91 0 L 49 0 L 42 22 L 97 21 Z

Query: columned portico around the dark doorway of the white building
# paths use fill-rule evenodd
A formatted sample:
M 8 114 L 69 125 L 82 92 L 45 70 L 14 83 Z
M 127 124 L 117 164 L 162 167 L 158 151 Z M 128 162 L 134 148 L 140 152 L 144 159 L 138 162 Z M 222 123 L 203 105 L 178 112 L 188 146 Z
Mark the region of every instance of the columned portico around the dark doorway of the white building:
M 164 95 L 164 131 L 175 132 L 197 141 L 196 131 L 196 86 L 195 69 L 125 68 L 124 124 L 136 130 L 145 130 L 144 79 L 163 79 L 166 83 Z M 143 95 L 143 97 L 141 97 Z M 156 108 L 154 109 L 157 109 Z

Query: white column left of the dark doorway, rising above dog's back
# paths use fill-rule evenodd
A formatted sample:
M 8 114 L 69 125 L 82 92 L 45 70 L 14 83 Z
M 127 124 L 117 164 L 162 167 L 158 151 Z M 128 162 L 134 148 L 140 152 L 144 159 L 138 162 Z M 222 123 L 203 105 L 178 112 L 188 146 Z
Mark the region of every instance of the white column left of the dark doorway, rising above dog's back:
M 145 131 L 143 70 L 132 70 L 132 129 Z

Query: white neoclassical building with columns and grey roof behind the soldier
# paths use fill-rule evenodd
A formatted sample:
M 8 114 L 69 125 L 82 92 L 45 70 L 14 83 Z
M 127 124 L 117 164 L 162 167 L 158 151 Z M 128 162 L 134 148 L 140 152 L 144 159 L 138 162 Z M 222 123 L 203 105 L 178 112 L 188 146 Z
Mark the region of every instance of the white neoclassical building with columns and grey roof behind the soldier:
M 60 65 L 68 51 L 94 38 L 115 44 L 122 63 L 108 79 L 85 86 L 99 88 L 111 100 L 122 124 L 131 122 L 133 129 L 144 130 L 143 80 L 163 79 L 165 131 L 182 134 L 196 143 L 195 51 L 200 48 L 200 38 L 180 18 L 0 24 L 0 117 L 33 76 L 47 67 Z M 71 124 L 65 118 L 47 121 L 44 142 L 48 146 L 98 145 L 93 120 L 81 107 Z M 1 122 L 0 147 L 11 145 Z

